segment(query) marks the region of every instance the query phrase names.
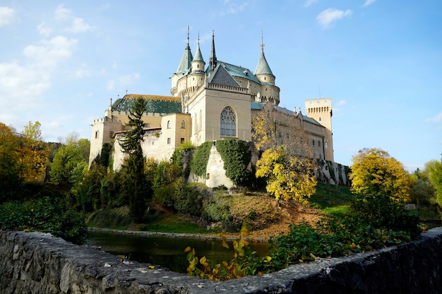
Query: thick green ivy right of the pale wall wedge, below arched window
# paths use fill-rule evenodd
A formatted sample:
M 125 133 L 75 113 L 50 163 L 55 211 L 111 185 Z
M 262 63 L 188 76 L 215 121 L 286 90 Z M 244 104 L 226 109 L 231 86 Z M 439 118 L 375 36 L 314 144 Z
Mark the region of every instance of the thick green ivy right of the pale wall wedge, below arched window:
M 241 140 L 228 139 L 217 141 L 216 147 L 224 161 L 226 176 L 235 185 L 247 183 L 250 178 L 247 166 L 251 159 L 249 144 Z

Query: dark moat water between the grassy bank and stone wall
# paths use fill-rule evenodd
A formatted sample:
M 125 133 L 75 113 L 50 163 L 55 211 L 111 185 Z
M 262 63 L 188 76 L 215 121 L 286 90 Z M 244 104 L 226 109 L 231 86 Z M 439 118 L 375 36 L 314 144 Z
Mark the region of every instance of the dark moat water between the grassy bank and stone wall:
M 156 264 L 167 267 L 171 271 L 186 273 L 187 262 L 184 252 L 187 246 L 195 248 L 196 256 L 213 260 L 216 263 L 229 262 L 233 255 L 233 246 L 230 249 L 222 247 L 221 241 L 191 240 L 164 237 L 146 237 L 141 235 L 121 235 L 104 232 L 90 232 L 88 245 L 100 246 L 105 252 L 113 255 L 124 255 L 129 260 Z M 251 243 L 252 250 L 264 256 L 267 243 Z

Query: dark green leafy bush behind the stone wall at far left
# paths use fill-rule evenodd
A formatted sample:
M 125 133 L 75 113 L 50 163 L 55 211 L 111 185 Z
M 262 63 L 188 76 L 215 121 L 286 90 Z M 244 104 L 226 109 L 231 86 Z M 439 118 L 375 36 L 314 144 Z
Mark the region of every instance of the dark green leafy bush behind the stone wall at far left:
M 52 233 L 76 244 L 88 236 L 85 216 L 57 197 L 0 205 L 0 229 Z

